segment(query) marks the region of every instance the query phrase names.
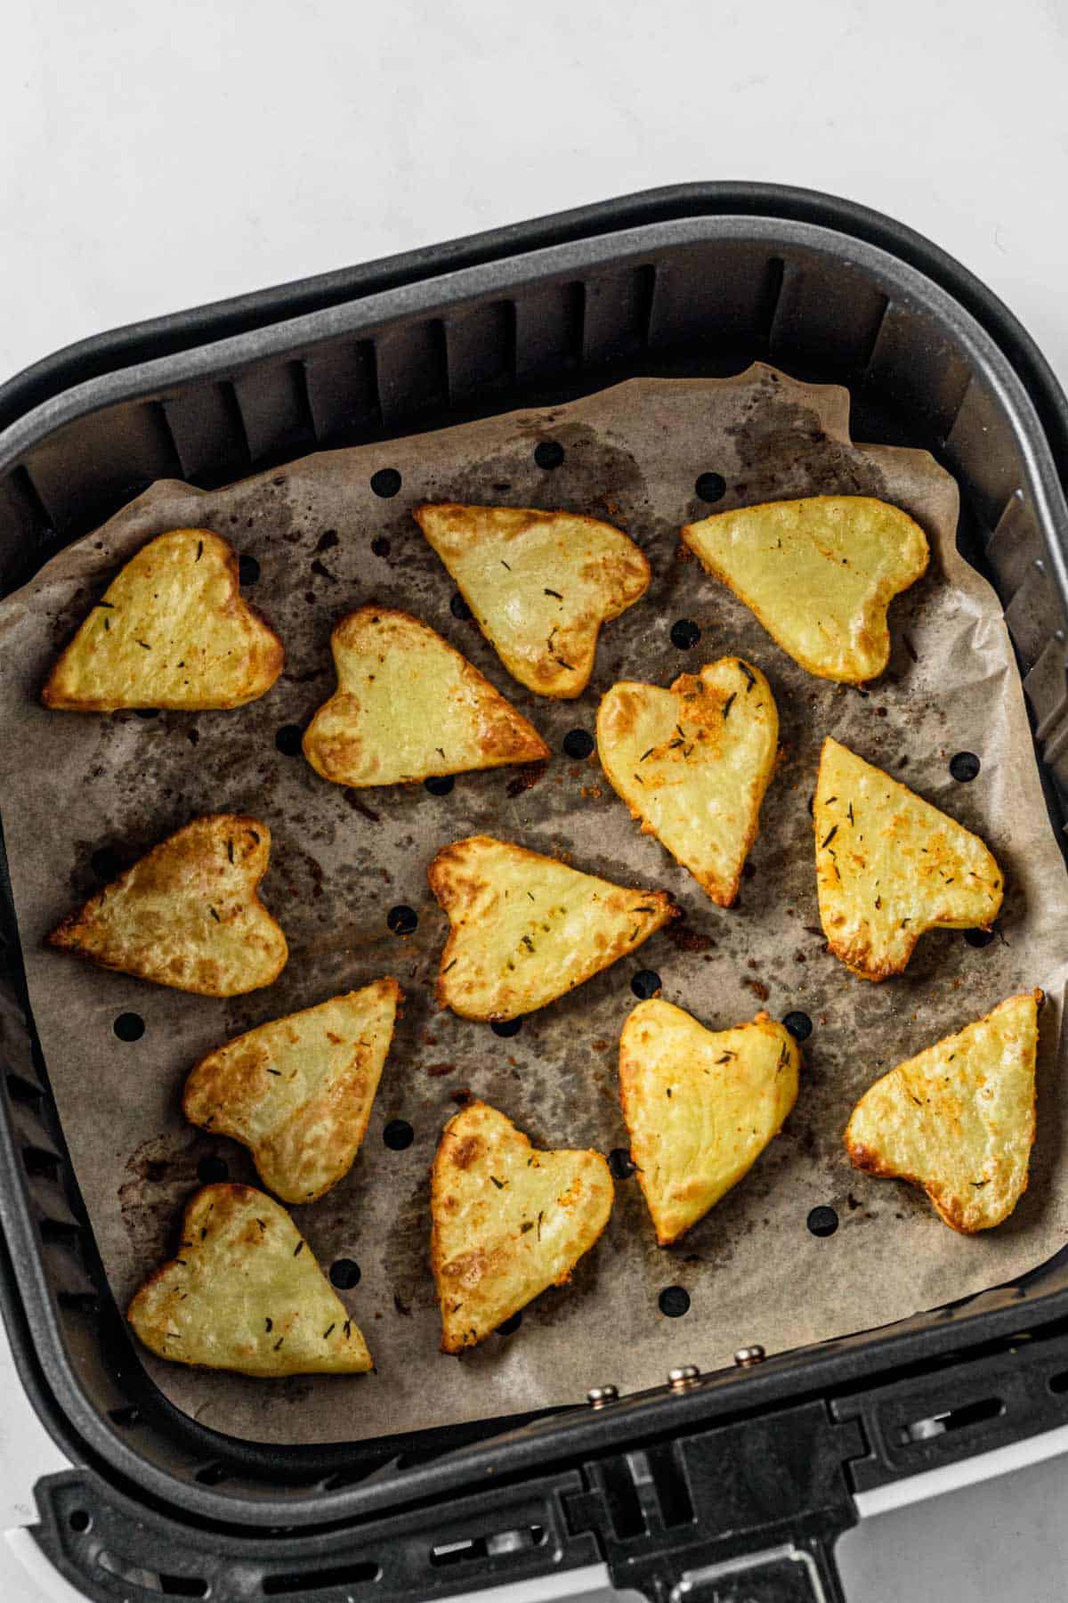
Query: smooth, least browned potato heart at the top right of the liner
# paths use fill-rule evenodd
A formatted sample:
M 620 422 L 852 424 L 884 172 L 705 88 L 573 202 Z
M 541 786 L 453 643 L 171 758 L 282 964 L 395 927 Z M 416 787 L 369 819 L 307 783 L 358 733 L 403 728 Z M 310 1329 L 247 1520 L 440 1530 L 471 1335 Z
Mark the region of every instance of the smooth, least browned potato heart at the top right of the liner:
M 809 673 L 861 684 L 890 660 L 887 608 L 927 567 L 927 535 L 869 495 L 713 513 L 682 539 Z

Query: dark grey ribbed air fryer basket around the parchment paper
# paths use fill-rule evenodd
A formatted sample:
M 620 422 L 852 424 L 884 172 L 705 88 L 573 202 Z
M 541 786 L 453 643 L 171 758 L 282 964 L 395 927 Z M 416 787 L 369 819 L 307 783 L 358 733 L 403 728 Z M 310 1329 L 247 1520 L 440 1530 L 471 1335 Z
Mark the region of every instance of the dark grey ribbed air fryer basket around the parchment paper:
M 61 353 L 0 390 L 3 592 L 155 478 L 219 484 L 315 446 L 754 359 L 847 385 L 855 439 L 925 446 L 959 479 L 962 547 L 1006 606 L 1063 824 L 1065 399 L 956 263 L 802 191 L 639 196 Z M 597 1557 L 655 1592 L 775 1547 L 769 1587 L 833 1589 L 852 1491 L 1068 1420 L 1062 1254 L 900 1326 L 538 1420 L 285 1451 L 205 1430 L 147 1382 L 107 1295 L 6 880 L 2 915 L 5 1314 L 78 1467 L 38 1489 L 38 1539 L 93 1595 L 426 1597 Z M 681 1363 L 684 1347 L 681 1329 Z M 935 1415 L 958 1428 L 913 1435 Z

